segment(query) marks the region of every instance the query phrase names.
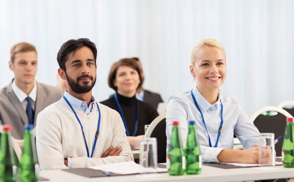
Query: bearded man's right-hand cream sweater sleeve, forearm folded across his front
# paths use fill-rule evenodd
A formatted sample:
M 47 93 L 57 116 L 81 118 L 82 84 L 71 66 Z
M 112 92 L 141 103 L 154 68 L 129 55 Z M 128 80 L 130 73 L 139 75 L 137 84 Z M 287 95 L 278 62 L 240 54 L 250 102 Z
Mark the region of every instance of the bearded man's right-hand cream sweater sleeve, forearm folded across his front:
M 125 162 L 133 161 L 133 154 L 130 148 L 130 144 L 126 138 L 125 129 L 123 126 L 123 120 L 119 113 L 115 115 L 114 127 L 113 127 L 113 138 L 111 146 L 117 147 L 121 146 L 123 151 L 120 156 L 107 156 L 105 158 L 89 158 L 87 156 L 72 157 L 72 167 L 73 168 L 83 168 L 90 166 L 98 166 L 102 164 L 115 163 L 115 162 Z

